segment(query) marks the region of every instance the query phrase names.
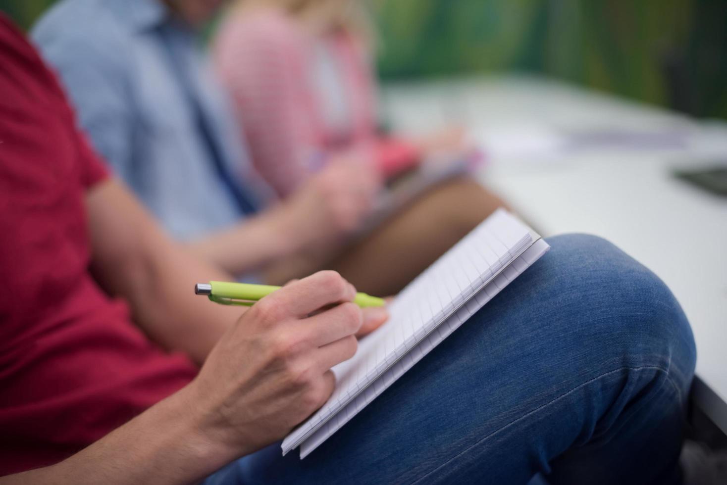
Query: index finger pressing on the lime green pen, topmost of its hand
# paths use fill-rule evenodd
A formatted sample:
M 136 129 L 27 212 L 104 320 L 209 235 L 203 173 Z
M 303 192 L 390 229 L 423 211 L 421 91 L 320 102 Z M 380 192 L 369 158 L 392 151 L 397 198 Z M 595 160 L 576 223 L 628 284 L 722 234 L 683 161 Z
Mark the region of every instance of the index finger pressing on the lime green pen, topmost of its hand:
M 353 301 L 353 298 L 356 298 L 356 290 L 340 274 L 321 271 L 285 285 L 262 298 L 253 308 L 269 314 L 275 321 L 286 316 L 306 317 L 323 306 Z

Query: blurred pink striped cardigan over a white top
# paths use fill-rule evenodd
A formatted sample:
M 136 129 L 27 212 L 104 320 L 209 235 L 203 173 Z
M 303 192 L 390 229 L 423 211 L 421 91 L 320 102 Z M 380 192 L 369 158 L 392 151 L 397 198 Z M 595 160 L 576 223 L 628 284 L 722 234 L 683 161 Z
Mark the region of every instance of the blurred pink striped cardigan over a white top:
M 330 155 L 360 155 L 383 176 L 419 160 L 413 144 L 378 133 L 371 62 L 345 33 L 315 38 L 275 9 L 233 12 L 214 61 L 254 164 L 281 197 Z

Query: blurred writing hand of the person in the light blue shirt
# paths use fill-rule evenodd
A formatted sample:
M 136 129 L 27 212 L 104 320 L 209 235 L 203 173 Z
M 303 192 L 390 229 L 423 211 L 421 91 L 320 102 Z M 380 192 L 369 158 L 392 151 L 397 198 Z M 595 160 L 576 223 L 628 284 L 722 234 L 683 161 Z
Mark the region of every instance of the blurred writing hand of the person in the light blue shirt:
M 350 235 L 373 211 L 380 188 L 371 164 L 332 160 L 286 201 L 292 237 L 310 248 Z

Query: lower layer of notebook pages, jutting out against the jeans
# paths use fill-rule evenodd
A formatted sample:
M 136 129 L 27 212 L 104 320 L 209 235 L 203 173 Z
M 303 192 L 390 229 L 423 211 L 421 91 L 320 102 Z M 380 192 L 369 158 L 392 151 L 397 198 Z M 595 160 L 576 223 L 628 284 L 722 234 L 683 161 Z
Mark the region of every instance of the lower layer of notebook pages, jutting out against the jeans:
M 389 370 L 383 375 L 374 380 L 370 386 L 366 388 L 366 391 L 358 394 L 356 399 L 349 402 L 335 417 L 332 417 L 326 422 L 321 428 L 313 433 L 310 438 L 300 444 L 300 458 L 301 460 L 307 457 L 310 452 L 321 445 L 326 439 L 329 439 L 333 433 L 338 431 L 345 423 L 348 423 L 354 416 L 358 414 L 361 409 L 364 409 L 371 401 L 376 399 L 379 394 L 382 394 L 389 386 L 395 383 L 398 378 L 403 375 L 404 372 L 411 369 L 422 357 L 429 353 L 435 346 L 438 346 L 441 341 L 447 338 L 454 330 L 467 321 L 470 317 L 475 314 L 476 311 L 481 309 L 485 303 L 494 298 L 497 293 L 500 292 L 508 283 L 515 280 L 516 277 L 528 269 L 531 264 L 537 261 L 540 256 L 544 255 L 550 246 L 545 243 L 544 240 L 539 239 L 528 249 L 525 250 L 521 256 L 516 258 L 512 264 L 505 268 L 505 271 L 500 273 L 493 281 L 489 282 L 482 290 L 480 290 L 470 301 L 467 301 L 456 313 L 446 319 L 435 332 L 430 333 L 427 337 L 419 342 L 414 349 L 411 349 L 402 359 L 396 362 Z

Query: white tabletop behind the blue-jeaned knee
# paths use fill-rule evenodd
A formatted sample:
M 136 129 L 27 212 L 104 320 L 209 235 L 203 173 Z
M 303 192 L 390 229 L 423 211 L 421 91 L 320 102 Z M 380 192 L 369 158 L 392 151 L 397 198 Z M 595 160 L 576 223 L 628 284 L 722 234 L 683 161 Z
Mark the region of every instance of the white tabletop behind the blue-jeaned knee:
M 696 404 L 727 433 L 727 199 L 671 174 L 727 161 L 726 128 L 543 78 L 389 84 L 382 97 L 396 129 L 456 122 L 494 134 L 482 180 L 542 235 L 606 237 L 658 274 L 694 330 Z M 558 149 L 564 132 L 604 129 L 654 131 L 656 146 Z

